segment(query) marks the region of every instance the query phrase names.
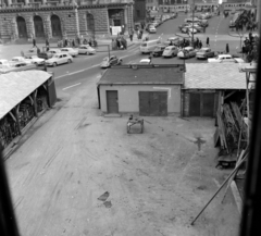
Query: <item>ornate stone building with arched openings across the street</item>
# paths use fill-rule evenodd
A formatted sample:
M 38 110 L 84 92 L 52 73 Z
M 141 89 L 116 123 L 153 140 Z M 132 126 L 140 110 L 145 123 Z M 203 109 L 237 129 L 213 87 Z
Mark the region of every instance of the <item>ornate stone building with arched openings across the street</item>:
M 127 32 L 133 25 L 133 0 L 0 0 L 0 38 L 60 39 Z

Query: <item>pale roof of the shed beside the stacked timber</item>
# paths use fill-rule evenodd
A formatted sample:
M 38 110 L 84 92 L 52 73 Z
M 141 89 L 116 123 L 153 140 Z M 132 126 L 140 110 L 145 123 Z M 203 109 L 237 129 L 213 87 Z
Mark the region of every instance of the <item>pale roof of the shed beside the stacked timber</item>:
M 186 64 L 185 89 L 246 89 L 246 73 L 237 63 Z

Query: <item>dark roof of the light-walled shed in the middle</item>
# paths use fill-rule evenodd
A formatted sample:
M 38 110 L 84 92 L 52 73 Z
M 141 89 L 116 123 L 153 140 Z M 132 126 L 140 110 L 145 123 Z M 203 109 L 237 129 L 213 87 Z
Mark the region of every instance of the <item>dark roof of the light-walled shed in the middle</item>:
M 137 65 L 138 69 L 132 66 L 115 66 L 105 71 L 99 85 L 146 85 L 146 84 L 174 84 L 183 85 L 184 83 L 184 65 L 179 66 L 151 66 Z

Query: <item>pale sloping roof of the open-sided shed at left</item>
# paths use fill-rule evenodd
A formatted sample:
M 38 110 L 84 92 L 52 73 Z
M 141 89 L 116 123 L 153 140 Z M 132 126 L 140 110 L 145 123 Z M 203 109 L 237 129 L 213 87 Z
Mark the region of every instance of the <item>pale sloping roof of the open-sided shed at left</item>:
M 52 75 L 44 71 L 11 72 L 0 75 L 0 119 Z

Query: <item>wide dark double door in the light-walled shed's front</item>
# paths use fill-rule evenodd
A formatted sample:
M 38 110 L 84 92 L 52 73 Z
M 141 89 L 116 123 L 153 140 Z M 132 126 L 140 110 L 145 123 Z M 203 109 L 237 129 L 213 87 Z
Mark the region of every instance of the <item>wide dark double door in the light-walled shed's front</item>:
M 139 91 L 139 114 L 145 116 L 167 115 L 167 91 Z

